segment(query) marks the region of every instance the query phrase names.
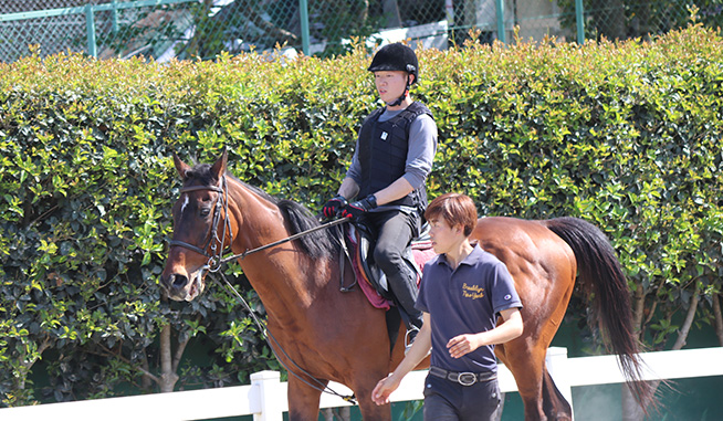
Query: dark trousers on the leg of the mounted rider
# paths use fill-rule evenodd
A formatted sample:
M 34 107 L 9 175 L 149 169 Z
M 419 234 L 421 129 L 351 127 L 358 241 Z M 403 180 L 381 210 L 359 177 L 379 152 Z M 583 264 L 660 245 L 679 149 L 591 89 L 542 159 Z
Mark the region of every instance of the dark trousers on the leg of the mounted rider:
M 366 222 L 377 231 L 374 261 L 387 276 L 397 304 L 404 311 L 407 328 L 421 328 L 422 314 L 415 308 L 417 302 L 417 273 L 402 259 L 409 242 L 419 234 L 421 218 L 418 212 L 392 210 L 369 212 Z M 407 317 L 405 317 L 407 316 Z

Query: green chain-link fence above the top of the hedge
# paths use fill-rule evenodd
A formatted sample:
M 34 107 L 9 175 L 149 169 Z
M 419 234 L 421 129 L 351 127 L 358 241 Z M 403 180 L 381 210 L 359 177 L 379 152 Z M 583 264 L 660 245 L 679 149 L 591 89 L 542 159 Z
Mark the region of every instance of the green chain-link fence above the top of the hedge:
M 306 54 L 411 39 L 427 46 L 546 35 L 647 38 L 691 15 L 723 22 L 723 0 L 27 0 L 0 2 L 0 61 L 28 54 L 143 54 L 164 61 L 286 45 Z M 36 45 L 33 48 L 32 45 Z

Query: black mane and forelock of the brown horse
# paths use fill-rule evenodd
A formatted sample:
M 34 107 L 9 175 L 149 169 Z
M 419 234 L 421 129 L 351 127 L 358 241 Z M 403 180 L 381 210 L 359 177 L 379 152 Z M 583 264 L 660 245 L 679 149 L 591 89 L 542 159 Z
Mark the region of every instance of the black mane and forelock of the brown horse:
M 261 198 L 275 204 L 281 211 L 282 215 L 284 217 L 286 228 L 289 229 L 289 231 L 291 231 L 292 234 L 297 234 L 300 232 L 304 232 L 306 230 L 321 225 L 318 220 L 314 218 L 312 212 L 303 204 L 296 203 L 293 200 L 277 199 L 266 193 L 265 191 L 259 189 L 258 187 L 248 185 L 239 180 L 230 172 L 227 172 L 226 177 L 235 180 L 244 188 L 253 191 L 255 194 L 259 194 Z M 214 183 L 214 181 L 218 181 L 211 175 L 211 166 L 209 164 L 199 164 L 196 165 L 190 170 L 186 171 L 186 178 L 184 179 L 184 183 L 192 179 L 201 182 L 203 186 L 211 186 L 212 183 Z M 339 242 L 334 236 L 334 232 L 336 232 L 336 229 L 318 230 L 318 231 L 311 232 L 306 235 L 303 235 L 295 241 L 298 242 L 298 244 L 306 252 L 306 254 L 308 254 L 311 259 L 316 260 L 316 259 L 331 257 L 335 255 L 339 250 Z

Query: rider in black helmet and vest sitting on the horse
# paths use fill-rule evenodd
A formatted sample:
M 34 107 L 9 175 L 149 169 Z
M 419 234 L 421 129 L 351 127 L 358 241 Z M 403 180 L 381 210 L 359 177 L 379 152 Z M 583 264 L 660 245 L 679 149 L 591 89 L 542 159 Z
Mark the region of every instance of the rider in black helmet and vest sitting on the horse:
M 415 308 L 417 273 L 404 262 L 402 252 L 419 234 L 427 208 L 425 182 L 437 151 L 437 125 L 427 106 L 409 94 L 419 77 L 413 50 L 385 45 L 368 71 L 386 106 L 364 120 L 346 177 L 322 212 L 326 218 L 364 219 L 376 231 L 374 260 L 401 309 L 410 343 L 422 316 Z M 348 203 L 355 197 L 357 201 Z

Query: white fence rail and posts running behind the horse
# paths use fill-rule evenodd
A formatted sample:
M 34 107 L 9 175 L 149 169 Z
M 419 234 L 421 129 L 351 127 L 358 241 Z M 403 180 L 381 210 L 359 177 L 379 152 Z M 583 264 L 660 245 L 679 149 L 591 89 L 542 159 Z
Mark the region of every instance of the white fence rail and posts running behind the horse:
M 647 369 L 645 380 L 723 376 L 723 347 L 641 354 Z M 567 358 L 566 348 L 549 348 L 547 366 L 555 383 L 572 402 L 570 388 L 625 382 L 615 356 Z M 412 371 L 391 394 L 391 400 L 421 400 L 427 370 Z M 516 391 L 510 370 L 500 366 L 500 389 Z M 339 383 L 329 385 L 343 394 L 352 391 Z M 349 403 L 324 393 L 322 408 Z M 277 371 L 251 375 L 250 386 L 179 391 L 135 397 L 48 403 L 34 407 L 0 409 L 3 421 L 27 420 L 205 420 L 253 414 L 254 421 L 280 421 L 287 411 L 286 383 Z

